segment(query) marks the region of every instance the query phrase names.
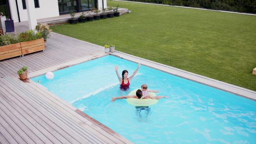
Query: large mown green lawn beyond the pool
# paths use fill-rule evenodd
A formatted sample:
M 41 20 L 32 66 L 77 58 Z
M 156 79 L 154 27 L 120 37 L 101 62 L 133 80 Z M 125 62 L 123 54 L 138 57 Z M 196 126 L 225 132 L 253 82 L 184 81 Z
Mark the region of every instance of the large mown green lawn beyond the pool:
M 256 91 L 256 16 L 108 1 L 119 17 L 53 32 Z

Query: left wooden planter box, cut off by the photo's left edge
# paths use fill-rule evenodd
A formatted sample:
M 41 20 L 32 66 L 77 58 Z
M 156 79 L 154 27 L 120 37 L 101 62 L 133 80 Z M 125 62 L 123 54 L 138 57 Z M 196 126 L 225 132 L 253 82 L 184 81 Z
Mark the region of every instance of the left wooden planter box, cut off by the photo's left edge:
M 20 43 L 0 46 L 0 60 L 22 55 Z

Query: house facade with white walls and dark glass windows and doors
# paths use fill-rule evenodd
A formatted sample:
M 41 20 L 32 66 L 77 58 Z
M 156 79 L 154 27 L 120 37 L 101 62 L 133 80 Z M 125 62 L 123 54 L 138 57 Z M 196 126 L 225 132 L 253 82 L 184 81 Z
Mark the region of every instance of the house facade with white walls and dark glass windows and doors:
M 29 20 L 29 10 L 26 3 L 35 5 L 35 18 L 57 17 L 62 14 L 69 14 L 70 11 L 85 12 L 91 10 L 92 7 L 98 6 L 98 9 L 106 8 L 106 0 L 0 0 L 0 12 L 6 16 L 6 19 L 15 22 L 23 22 Z M 32 5 L 33 6 L 33 5 Z M 34 9 L 34 8 L 33 8 Z M 31 14 L 30 14 L 31 15 Z

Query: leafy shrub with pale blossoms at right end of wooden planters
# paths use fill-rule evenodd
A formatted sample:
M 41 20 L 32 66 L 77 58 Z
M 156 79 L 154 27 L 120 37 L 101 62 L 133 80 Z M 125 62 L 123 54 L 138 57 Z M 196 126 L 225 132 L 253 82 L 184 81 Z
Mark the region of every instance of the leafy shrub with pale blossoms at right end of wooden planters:
M 37 23 L 37 25 L 35 26 L 35 30 L 41 33 L 42 37 L 44 38 L 44 46 L 46 46 L 47 39 L 52 36 L 50 35 L 50 32 L 52 32 L 52 29 L 50 29 L 47 23 L 44 23 L 44 24 Z

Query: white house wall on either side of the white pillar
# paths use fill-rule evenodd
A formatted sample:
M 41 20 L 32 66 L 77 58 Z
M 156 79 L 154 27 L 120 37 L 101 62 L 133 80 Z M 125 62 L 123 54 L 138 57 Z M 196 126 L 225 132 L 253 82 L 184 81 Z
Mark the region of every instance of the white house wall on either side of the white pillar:
M 9 0 L 9 3 L 10 3 L 10 9 L 12 13 L 12 19 L 15 22 L 19 22 L 16 1 Z M 22 1 L 17 0 L 17 5 L 20 13 L 20 22 L 27 21 L 28 20 L 27 10 L 23 9 Z M 40 8 L 35 8 L 36 19 L 59 16 L 58 0 L 39 0 L 39 7 Z

